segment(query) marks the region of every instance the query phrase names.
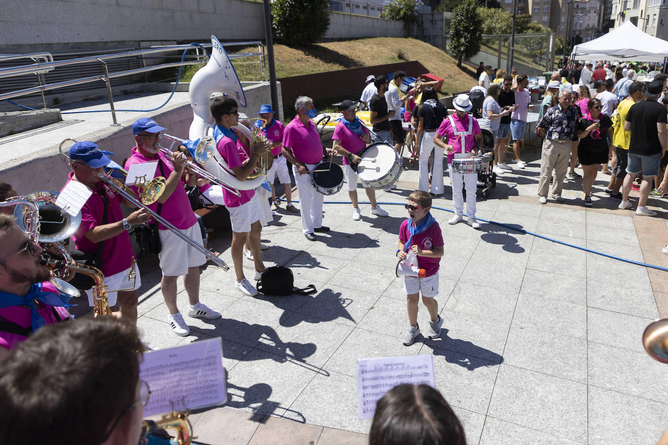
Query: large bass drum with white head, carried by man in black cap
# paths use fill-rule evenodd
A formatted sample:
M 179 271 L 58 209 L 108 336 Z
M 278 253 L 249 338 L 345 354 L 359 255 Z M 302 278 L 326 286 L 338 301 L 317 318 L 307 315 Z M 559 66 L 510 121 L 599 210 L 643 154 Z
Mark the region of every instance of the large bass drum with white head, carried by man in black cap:
M 385 189 L 399 180 L 403 161 L 392 145 L 377 142 L 357 155 L 361 157 L 361 161 L 352 167 L 357 171 L 359 179 L 372 189 Z

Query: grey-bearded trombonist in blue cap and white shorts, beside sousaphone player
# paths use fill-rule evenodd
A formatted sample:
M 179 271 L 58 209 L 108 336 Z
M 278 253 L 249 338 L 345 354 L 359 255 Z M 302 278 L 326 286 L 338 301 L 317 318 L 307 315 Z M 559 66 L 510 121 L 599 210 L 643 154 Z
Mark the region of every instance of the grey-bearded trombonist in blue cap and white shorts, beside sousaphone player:
M 132 124 L 132 134 L 136 146 L 132 149 L 132 155 L 126 161 L 126 169 L 136 163 L 158 161 L 155 175 L 164 176 L 167 179 L 162 195 L 158 201 L 147 205 L 178 229 L 182 234 L 201 243 L 202 234 L 195 214 L 190 208 L 190 201 L 184 189 L 183 179 L 186 160 L 182 153 L 175 151 L 172 157 L 166 156 L 160 151 L 160 127 L 153 119 L 142 117 Z M 192 175 L 193 179 L 196 175 Z M 133 185 L 132 189 L 137 191 Z M 162 224 L 158 224 L 160 244 L 162 248 L 160 258 L 160 290 L 169 310 L 167 322 L 175 334 L 187 336 L 190 328 L 183 320 L 183 316 L 176 306 L 176 280 L 183 277 L 183 284 L 188 293 L 188 316 L 194 318 L 206 318 L 207 320 L 220 317 L 220 312 L 208 308 L 200 302 L 200 266 L 206 263 L 206 257 L 190 244 L 173 234 Z

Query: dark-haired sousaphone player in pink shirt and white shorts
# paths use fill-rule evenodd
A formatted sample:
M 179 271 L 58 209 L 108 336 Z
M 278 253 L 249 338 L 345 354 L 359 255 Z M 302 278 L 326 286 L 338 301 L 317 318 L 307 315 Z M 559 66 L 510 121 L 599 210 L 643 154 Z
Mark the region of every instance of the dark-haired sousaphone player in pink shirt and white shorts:
M 231 97 L 218 96 L 211 102 L 211 115 L 216 121 L 216 128 L 220 131 L 220 133 L 214 131 L 216 149 L 225 159 L 236 178 L 245 181 L 255 168 L 260 155 L 267 151 L 267 147 L 263 144 L 257 144 L 253 153 L 249 156 L 242 145 L 237 145 L 239 138 L 231 129 L 239 122 L 237 109 L 238 105 Z M 232 246 L 230 250 L 236 274 L 236 289 L 244 295 L 255 296 L 257 295 L 257 289 L 244 276 L 243 254 L 244 242 L 248 240 L 248 247 L 251 249 L 253 262 L 255 263 L 255 276 L 253 278 L 256 281 L 260 280 L 263 272 L 265 272 L 265 264 L 262 262 L 260 248 L 262 226 L 260 224 L 259 198 L 255 189 L 239 190 L 240 196 L 236 196 L 222 187 L 221 189 L 222 199 L 214 196 L 212 202 L 224 204 L 230 212 L 230 223 L 232 224 Z

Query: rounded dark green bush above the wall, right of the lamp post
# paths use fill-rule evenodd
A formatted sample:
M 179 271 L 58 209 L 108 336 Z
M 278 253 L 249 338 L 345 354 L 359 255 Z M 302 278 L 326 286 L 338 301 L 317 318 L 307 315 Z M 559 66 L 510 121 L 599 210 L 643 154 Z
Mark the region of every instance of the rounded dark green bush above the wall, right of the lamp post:
M 329 28 L 329 0 L 274 0 L 271 25 L 274 35 L 288 45 L 312 45 Z

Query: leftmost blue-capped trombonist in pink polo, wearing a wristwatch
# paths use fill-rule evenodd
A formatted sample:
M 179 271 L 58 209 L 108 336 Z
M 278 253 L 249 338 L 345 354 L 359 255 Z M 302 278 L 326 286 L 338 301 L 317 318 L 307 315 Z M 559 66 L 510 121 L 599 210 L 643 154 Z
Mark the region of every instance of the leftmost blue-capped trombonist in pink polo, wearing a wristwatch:
M 100 147 L 90 141 L 80 141 L 69 149 L 69 161 L 72 171 L 65 183 L 77 181 L 93 191 L 86 204 L 81 207 L 81 225 L 72 236 L 72 240 L 81 252 L 87 252 L 98 260 L 98 267 L 104 274 L 104 284 L 110 292 L 107 293 L 109 306 L 116 306 L 118 296 L 118 315 L 132 324 L 137 322 L 137 290 L 142 285 L 139 268 L 134 262 L 134 252 L 130 244 L 128 230 L 135 224 L 142 224 L 150 219 L 146 209 L 139 209 L 123 216 L 121 204 L 126 207 L 135 207 L 127 199 L 108 187 L 100 173 L 111 162 L 109 151 L 102 151 Z M 113 181 L 136 199 L 134 191 L 113 179 Z M 63 188 L 65 188 L 63 187 Z M 129 276 L 134 269 L 135 278 Z M 134 286 L 133 286 L 134 285 Z M 118 289 L 126 289 L 116 292 Z M 88 304 L 93 306 L 93 291 L 87 290 Z M 118 295 L 117 295 L 118 294 Z

